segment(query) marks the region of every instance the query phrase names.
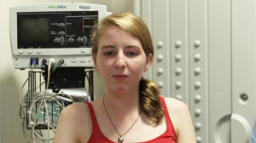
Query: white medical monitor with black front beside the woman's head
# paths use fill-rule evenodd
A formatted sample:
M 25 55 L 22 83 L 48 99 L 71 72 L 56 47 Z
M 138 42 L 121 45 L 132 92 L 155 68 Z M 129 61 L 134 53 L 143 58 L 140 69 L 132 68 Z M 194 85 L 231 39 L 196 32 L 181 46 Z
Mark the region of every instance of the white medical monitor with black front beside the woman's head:
M 91 31 L 108 15 L 105 5 L 40 3 L 10 8 L 14 66 L 41 68 L 42 61 L 64 60 L 62 67 L 91 67 Z

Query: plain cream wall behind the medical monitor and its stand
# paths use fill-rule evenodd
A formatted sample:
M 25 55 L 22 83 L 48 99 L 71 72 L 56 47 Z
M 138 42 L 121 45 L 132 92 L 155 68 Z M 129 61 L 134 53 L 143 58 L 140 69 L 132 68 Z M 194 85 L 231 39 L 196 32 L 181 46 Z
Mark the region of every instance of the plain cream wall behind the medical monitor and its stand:
M 0 143 L 25 143 L 18 117 L 19 94 L 27 77 L 27 70 L 14 69 L 9 40 L 9 7 L 33 3 L 96 3 L 107 5 L 108 11 L 133 12 L 133 0 L 0 0 Z M 95 72 L 95 89 L 103 89 Z M 96 98 L 104 91 L 95 90 Z

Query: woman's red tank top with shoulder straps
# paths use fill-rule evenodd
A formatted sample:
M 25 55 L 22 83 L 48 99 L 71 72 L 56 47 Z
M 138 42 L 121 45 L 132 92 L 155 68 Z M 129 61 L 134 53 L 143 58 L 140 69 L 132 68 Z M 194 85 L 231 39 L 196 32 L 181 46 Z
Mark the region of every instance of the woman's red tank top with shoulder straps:
M 167 111 L 166 101 L 164 100 L 163 97 L 160 97 L 160 101 L 165 111 L 166 131 L 165 133 L 160 134 L 160 136 L 152 140 L 143 141 L 140 143 L 155 143 L 155 142 L 176 143 L 177 142 L 176 132 L 175 132 L 175 129 L 173 128 L 171 117 L 169 116 Z M 104 134 L 102 134 L 102 131 L 96 121 L 96 115 L 93 110 L 93 106 L 91 106 L 90 102 L 86 102 L 86 104 L 89 106 L 90 119 L 92 123 L 92 131 L 90 134 L 90 139 L 88 140 L 87 143 L 114 143 L 112 140 L 109 140 Z

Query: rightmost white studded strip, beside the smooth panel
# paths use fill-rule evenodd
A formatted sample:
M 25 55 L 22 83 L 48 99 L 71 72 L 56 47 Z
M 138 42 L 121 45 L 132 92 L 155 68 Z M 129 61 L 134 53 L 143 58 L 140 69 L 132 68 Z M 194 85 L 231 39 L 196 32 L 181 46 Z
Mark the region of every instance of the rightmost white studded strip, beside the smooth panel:
M 189 107 L 199 143 L 208 140 L 207 51 L 207 1 L 189 0 Z

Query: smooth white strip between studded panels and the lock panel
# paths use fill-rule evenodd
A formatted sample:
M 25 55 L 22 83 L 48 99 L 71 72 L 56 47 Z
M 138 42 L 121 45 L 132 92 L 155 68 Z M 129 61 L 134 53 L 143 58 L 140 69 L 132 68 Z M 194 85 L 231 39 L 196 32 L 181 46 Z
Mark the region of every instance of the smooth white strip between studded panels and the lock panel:
M 230 142 L 231 1 L 208 1 L 209 142 Z

